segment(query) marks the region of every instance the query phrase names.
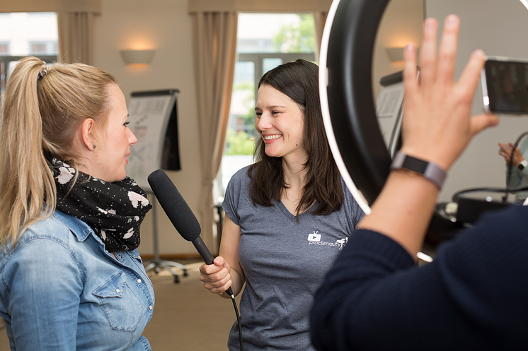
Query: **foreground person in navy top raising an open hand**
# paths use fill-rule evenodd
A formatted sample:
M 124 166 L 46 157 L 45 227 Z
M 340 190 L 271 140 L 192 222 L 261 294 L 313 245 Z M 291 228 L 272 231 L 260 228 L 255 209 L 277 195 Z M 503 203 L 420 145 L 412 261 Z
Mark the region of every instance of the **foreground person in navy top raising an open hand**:
M 434 18 L 425 21 L 420 81 L 415 46 L 404 52 L 400 151 L 447 172 L 498 118 L 471 117 L 484 53 L 471 54 L 455 81 L 460 20 L 446 18 L 439 49 L 437 28 Z M 317 350 L 528 349 L 528 207 L 486 213 L 418 266 L 440 187 L 419 172 L 391 170 L 316 293 Z

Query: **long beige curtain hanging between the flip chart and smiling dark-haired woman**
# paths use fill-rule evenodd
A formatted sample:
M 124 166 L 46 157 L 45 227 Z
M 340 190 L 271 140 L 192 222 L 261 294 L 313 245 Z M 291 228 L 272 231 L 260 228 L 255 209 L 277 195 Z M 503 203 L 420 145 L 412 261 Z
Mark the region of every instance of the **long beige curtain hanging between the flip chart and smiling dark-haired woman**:
M 217 251 L 217 241 L 213 235 L 212 189 L 224 152 L 236 61 L 238 16 L 232 11 L 195 12 L 191 16 L 202 147 L 201 236 L 207 246 Z

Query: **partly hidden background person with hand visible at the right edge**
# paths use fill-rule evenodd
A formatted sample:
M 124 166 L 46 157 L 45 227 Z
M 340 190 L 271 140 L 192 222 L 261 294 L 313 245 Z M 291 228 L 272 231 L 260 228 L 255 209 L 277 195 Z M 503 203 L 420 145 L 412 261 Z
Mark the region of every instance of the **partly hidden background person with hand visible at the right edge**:
M 528 138 L 524 138 L 514 150 L 513 143 L 499 143 L 499 155 L 506 161 L 506 178 L 510 189 L 520 189 L 528 186 Z M 521 150 L 524 150 L 521 152 Z M 526 156 L 526 157 L 525 157 Z M 511 166 L 510 166 L 511 165 Z M 517 191 L 515 203 L 522 205 L 528 198 L 528 191 Z

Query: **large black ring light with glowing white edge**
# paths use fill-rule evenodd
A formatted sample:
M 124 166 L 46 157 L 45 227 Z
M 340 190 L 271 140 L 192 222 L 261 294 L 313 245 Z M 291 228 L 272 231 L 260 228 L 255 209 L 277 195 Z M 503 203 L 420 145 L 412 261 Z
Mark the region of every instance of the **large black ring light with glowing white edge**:
M 372 53 L 389 0 L 334 0 L 321 40 L 319 94 L 335 162 L 362 210 L 370 213 L 391 156 L 381 136 L 372 95 Z M 457 233 L 435 213 L 425 237 L 436 245 Z

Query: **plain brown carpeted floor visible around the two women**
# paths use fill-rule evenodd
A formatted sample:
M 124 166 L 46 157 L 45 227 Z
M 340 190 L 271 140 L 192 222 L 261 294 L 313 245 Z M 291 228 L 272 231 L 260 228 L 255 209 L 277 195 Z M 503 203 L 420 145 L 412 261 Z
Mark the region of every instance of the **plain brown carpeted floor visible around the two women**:
M 197 261 L 184 262 L 188 276 L 177 270 L 180 282 L 166 270 L 149 272 L 154 284 L 156 306 L 143 335 L 154 351 L 227 350 L 227 335 L 236 321 L 233 303 L 213 295 L 199 280 Z M 236 299 L 237 305 L 239 297 Z M 0 321 L 0 351 L 8 351 L 4 321 Z

